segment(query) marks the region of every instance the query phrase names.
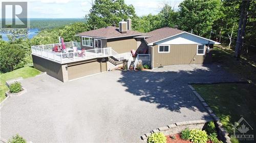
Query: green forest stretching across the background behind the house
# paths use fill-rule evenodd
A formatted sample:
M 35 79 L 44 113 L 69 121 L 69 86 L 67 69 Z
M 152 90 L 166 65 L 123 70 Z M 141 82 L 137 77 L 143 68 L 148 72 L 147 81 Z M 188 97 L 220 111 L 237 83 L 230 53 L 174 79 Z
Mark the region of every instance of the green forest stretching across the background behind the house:
M 156 15 L 137 16 L 134 6 L 126 5 L 124 0 L 95 0 L 90 13 L 85 15 L 83 20 L 49 19 L 42 22 L 37 19 L 31 23 L 31 27 L 40 28 L 42 31 L 34 38 L 9 35 L 9 41 L 0 40 L 1 72 L 31 65 L 31 45 L 57 43 L 59 36 L 63 37 L 65 42 L 79 41 L 75 36 L 77 33 L 109 26 L 127 18 L 132 19 L 132 28 L 135 31 L 146 33 L 157 28 L 178 25 L 180 30 L 210 38 L 233 49 L 237 41 L 242 4 L 243 1 L 185 0 L 180 3 L 178 10 L 174 10 L 165 2 Z M 108 9 L 105 9 L 106 7 Z M 246 7 L 247 22 L 242 54 L 255 54 L 256 1 L 249 1 Z

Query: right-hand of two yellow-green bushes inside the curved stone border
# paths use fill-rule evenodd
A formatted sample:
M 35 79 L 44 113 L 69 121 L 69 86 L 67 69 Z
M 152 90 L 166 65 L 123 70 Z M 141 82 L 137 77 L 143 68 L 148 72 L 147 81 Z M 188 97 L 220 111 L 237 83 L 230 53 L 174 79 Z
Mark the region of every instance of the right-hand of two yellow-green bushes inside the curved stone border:
M 206 131 L 195 129 L 189 132 L 189 139 L 194 143 L 206 143 L 208 135 Z

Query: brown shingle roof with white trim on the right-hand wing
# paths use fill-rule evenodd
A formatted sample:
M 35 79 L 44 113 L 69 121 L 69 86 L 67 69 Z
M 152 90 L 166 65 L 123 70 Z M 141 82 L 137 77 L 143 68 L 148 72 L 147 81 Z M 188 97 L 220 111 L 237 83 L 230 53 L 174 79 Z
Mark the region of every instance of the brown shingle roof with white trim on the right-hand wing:
M 145 41 L 148 45 L 152 45 L 155 42 L 162 41 L 164 39 L 174 37 L 174 36 L 180 35 L 182 33 L 186 33 L 188 35 L 192 35 L 192 36 L 195 36 L 195 37 L 199 37 L 199 38 L 211 41 L 214 44 L 220 44 L 219 42 L 216 42 L 216 41 L 213 41 L 213 40 L 210 40 L 210 39 L 206 39 L 206 38 L 203 38 L 203 37 L 200 37 L 200 36 L 197 36 L 197 35 L 182 31 L 182 30 L 178 30 L 176 28 L 170 28 L 170 27 L 159 28 L 159 29 L 154 30 L 152 32 L 146 33 L 145 35 L 143 35 L 143 37 L 145 37 L 145 38 L 149 37 L 149 38 L 146 38 Z

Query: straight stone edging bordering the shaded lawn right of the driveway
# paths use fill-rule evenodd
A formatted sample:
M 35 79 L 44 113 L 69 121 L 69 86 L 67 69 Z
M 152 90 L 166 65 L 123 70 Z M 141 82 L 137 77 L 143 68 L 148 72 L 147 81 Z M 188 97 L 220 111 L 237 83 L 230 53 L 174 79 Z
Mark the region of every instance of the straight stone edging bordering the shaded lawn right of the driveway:
M 221 82 L 221 83 L 223 83 L 223 82 Z M 234 83 L 234 82 L 228 82 L 228 83 Z M 248 82 L 239 82 L 239 83 L 248 83 Z M 218 133 L 218 136 L 220 137 L 220 139 L 224 142 L 231 143 L 230 137 L 228 136 L 228 132 L 223 128 L 223 126 L 220 122 L 220 119 L 215 115 L 214 111 L 211 110 L 209 105 L 200 96 L 200 94 L 197 93 L 197 91 L 192 87 L 191 84 L 217 84 L 217 83 L 208 83 L 208 82 L 207 83 L 189 83 L 188 87 L 191 89 L 191 91 L 194 93 L 194 95 L 199 99 L 199 101 L 203 104 L 204 108 L 209 113 L 209 115 L 212 117 L 212 119 L 214 119 L 215 127 L 216 127 L 216 130 L 217 130 L 217 133 Z

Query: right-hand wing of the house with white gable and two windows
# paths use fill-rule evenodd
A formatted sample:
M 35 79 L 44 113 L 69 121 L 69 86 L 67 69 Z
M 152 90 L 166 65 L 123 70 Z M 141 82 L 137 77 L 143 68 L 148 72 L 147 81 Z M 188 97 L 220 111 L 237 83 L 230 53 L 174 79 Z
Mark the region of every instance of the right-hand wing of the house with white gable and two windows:
M 151 53 L 152 68 L 167 65 L 210 63 L 210 49 L 213 48 L 214 44 L 220 44 L 170 27 L 159 28 L 141 37 L 145 38 Z

